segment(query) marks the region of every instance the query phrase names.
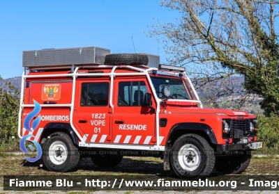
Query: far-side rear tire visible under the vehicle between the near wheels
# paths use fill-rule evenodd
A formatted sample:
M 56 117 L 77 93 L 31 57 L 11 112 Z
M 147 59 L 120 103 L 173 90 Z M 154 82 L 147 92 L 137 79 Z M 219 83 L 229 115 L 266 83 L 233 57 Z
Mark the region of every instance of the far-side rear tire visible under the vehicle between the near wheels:
M 123 156 L 121 155 L 103 155 L 96 154 L 91 156 L 91 160 L 100 168 L 114 168 L 121 163 Z

